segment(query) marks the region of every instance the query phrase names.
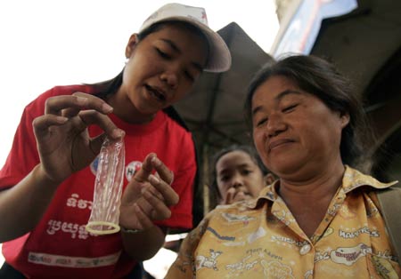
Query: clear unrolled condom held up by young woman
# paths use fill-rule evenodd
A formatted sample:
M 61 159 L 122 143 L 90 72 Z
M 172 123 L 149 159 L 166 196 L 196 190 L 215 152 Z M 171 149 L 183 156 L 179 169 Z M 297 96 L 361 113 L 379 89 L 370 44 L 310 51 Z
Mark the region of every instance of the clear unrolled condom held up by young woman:
M 94 235 L 109 235 L 119 232 L 119 205 L 125 169 L 124 139 L 102 143 L 98 155 L 94 201 L 86 224 L 86 230 Z

